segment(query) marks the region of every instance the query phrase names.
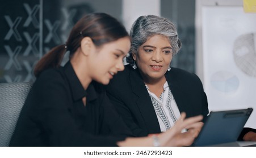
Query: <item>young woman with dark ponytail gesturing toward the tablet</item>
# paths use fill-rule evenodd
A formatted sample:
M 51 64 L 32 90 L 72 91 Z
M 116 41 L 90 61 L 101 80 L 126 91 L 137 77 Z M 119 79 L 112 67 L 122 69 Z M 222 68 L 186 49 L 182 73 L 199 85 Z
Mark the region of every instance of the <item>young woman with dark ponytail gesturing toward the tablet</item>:
M 185 119 L 158 137 L 129 138 L 131 131 L 103 89 L 123 71 L 130 38 L 114 17 L 94 13 L 75 24 L 65 45 L 36 65 L 37 80 L 20 112 L 10 146 L 187 146 L 202 116 Z M 60 66 L 65 52 L 70 60 Z M 191 128 L 186 138 L 181 130 Z

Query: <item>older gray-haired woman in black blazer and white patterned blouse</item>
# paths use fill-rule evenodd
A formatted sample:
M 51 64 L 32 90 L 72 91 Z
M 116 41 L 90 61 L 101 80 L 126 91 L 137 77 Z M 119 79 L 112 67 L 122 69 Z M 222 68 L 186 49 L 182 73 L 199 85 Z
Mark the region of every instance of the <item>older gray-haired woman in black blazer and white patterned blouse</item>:
M 140 16 L 130 36 L 129 64 L 107 86 L 107 94 L 133 134 L 166 131 L 181 112 L 206 117 L 207 96 L 199 77 L 170 67 L 182 45 L 174 24 L 163 17 Z

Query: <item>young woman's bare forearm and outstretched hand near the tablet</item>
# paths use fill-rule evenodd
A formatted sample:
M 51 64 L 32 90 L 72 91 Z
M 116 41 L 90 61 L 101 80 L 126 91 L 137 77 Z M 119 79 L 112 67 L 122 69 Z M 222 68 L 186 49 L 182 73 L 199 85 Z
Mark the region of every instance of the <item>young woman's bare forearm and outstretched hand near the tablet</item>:
M 126 138 L 124 141 L 117 142 L 118 146 L 190 146 L 203 126 L 203 116 L 186 118 L 185 113 L 181 113 L 181 118 L 175 123 L 173 128 L 164 133 L 157 134 L 156 137 Z M 181 133 L 182 129 L 188 129 Z

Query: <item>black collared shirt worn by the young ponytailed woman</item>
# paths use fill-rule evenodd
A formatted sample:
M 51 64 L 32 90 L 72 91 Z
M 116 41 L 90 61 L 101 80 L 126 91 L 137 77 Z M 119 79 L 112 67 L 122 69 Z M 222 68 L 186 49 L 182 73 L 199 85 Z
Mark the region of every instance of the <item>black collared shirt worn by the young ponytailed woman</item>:
M 117 146 L 129 131 L 102 85 L 92 82 L 85 91 L 68 62 L 37 78 L 10 146 Z

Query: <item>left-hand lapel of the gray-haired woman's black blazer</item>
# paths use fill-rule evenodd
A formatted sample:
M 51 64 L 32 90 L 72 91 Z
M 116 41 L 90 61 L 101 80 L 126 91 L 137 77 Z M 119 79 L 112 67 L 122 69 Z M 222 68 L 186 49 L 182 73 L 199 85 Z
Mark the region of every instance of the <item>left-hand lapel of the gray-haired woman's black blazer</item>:
M 138 96 L 136 104 L 140 109 L 149 133 L 160 133 L 156 112 L 139 71 L 131 71 L 130 81 L 133 93 Z

